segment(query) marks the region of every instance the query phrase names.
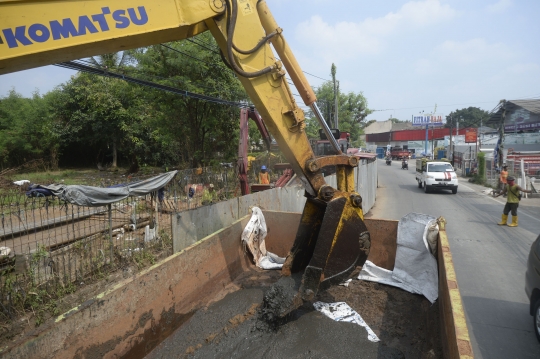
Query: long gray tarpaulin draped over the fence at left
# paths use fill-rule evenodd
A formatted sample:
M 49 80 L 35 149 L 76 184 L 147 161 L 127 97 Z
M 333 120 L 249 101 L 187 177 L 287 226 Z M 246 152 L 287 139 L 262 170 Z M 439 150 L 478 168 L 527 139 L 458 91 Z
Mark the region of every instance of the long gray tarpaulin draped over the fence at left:
M 101 188 L 80 185 L 52 184 L 39 186 L 50 190 L 63 201 L 77 206 L 99 207 L 118 202 L 127 197 L 144 196 L 163 188 L 178 171 L 171 171 L 143 181 L 127 183 L 116 187 Z

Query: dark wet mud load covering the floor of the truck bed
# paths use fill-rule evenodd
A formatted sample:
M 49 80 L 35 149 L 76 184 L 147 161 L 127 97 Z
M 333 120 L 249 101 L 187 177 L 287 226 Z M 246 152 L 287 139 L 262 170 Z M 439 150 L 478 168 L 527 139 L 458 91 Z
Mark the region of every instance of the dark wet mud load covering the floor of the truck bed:
M 268 272 L 266 272 L 268 273 Z M 381 339 L 364 328 L 335 322 L 306 303 L 277 328 L 261 320 L 263 297 L 274 274 L 257 274 L 191 319 L 157 346 L 154 358 L 421 358 L 442 357 L 438 304 L 397 288 L 358 281 L 319 293 L 316 301 L 344 301 Z

